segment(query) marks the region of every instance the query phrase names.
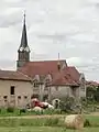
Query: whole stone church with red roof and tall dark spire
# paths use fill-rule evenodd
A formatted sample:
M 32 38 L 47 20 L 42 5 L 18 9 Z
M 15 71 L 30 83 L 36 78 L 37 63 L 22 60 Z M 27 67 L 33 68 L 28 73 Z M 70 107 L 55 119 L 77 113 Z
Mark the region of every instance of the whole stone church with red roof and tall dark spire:
M 65 96 L 86 97 L 85 76 L 65 59 L 30 62 L 25 18 L 21 45 L 18 51 L 18 70 L 33 81 L 33 97 L 41 100 Z

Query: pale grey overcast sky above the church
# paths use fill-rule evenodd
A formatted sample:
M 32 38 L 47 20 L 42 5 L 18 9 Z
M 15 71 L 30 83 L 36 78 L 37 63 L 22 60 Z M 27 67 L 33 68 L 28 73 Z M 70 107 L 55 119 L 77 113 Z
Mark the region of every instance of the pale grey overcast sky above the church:
M 24 10 L 32 61 L 59 53 L 99 80 L 99 0 L 0 0 L 0 68 L 15 69 Z

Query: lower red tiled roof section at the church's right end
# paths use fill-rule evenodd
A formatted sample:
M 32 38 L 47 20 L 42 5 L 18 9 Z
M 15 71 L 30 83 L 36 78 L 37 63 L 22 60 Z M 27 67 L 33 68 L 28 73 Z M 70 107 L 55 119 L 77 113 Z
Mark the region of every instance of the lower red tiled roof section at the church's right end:
M 52 85 L 79 86 L 80 74 L 75 67 L 66 67 L 63 70 L 53 74 Z

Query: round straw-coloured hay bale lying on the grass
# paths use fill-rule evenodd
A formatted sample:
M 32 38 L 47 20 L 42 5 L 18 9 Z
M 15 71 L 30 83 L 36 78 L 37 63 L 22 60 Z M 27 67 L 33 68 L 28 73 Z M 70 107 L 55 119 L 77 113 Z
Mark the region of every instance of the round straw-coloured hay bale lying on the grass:
M 65 118 L 65 125 L 68 129 L 82 129 L 84 118 L 81 114 L 70 114 Z

